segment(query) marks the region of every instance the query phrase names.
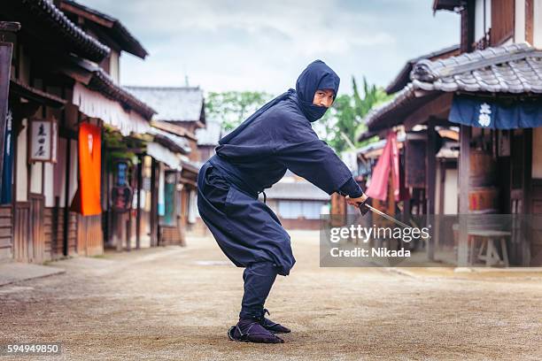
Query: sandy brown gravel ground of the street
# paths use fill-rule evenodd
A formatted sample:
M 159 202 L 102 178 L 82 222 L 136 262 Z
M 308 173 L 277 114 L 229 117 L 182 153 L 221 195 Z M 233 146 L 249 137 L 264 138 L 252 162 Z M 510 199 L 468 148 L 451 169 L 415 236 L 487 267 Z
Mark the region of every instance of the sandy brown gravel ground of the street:
M 66 360 L 542 359 L 540 276 L 320 268 L 318 234 L 292 244 L 298 263 L 266 304 L 292 328 L 286 343 L 228 341 L 243 270 L 210 238 L 60 261 L 64 274 L 1 287 L 0 343 L 62 342 L 41 359 Z

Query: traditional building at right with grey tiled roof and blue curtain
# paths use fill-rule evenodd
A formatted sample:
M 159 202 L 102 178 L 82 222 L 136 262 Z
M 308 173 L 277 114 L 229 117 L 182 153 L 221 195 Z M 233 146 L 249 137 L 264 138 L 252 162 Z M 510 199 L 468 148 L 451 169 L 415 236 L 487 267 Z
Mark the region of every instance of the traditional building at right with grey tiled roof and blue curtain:
M 397 91 L 394 98 L 368 114 L 368 133 L 361 137 L 385 136 L 392 129 L 406 132 L 406 183 L 422 190 L 425 214 L 453 204 L 459 214 L 505 213 L 526 219 L 541 213 L 542 52 L 537 47 L 542 46 L 542 22 L 536 19 L 542 19 L 542 3 L 435 1 L 433 9 L 461 14 L 461 54 L 417 59 L 409 81 L 389 87 Z M 443 131 L 450 136 L 458 131 L 459 152 L 443 148 Z M 444 162 L 439 154 L 446 154 Z M 453 172 L 455 167 L 459 173 Z M 458 203 L 453 191 L 445 192 L 453 189 L 445 179 L 456 176 Z M 538 224 L 474 233 L 458 225 L 459 263 L 476 263 L 468 250 L 481 241 L 499 249 L 500 264 L 539 265 Z M 437 240 L 438 234 L 433 235 Z M 506 242 L 496 246 L 497 238 Z M 429 242 L 430 259 L 432 247 Z

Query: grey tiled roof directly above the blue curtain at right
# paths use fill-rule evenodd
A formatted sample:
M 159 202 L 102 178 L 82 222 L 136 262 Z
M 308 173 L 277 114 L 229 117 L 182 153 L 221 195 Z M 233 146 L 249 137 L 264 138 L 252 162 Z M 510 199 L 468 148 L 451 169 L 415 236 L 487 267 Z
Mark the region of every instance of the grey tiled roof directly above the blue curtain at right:
M 457 57 L 421 60 L 412 80 L 389 102 L 370 111 L 364 119 L 369 131 L 400 123 L 442 92 L 478 94 L 542 94 L 542 50 L 527 43 L 476 50 Z

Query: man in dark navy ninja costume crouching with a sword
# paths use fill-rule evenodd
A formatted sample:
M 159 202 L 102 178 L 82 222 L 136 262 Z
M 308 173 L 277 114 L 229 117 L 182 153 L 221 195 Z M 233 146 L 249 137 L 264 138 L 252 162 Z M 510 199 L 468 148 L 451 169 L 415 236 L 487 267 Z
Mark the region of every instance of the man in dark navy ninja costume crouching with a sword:
M 358 206 L 367 196 L 337 154 L 314 133 L 333 103 L 339 77 L 321 60 L 299 75 L 290 89 L 265 104 L 216 148 L 197 178 L 197 207 L 221 250 L 244 267 L 244 296 L 231 340 L 278 343 L 275 334 L 290 329 L 265 317 L 264 303 L 277 274 L 286 276 L 296 262 L 275 213 L 258 195 L 283 178 L 287 169 L 329 195 L 338 192 Z

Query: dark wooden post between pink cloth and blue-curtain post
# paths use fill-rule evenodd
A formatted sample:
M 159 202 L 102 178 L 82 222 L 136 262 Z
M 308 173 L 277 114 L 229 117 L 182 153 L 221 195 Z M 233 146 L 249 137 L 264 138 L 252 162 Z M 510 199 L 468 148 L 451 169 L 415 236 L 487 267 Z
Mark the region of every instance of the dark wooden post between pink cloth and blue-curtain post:
M 427 259 L 430 261 L 435 259 L 435 235 L 437 234 L 431 225 L 431 219 L 435 219 L 435 186 L 437 174 L 437 132 L 435 131 L 435 121 L 430 119 L 427 125 L 427 149 L 425 151 L 425 187 L 426 193 L 426 216 L 427 227 L 430 229 L 430 238 L 427 240 Z

